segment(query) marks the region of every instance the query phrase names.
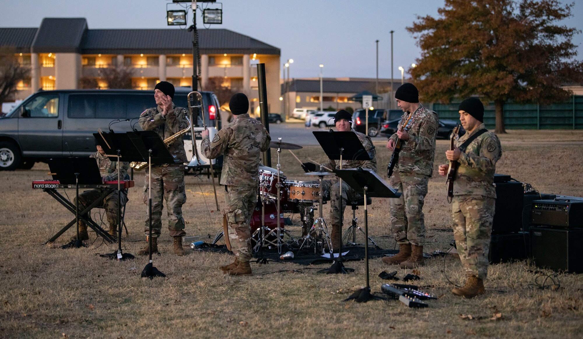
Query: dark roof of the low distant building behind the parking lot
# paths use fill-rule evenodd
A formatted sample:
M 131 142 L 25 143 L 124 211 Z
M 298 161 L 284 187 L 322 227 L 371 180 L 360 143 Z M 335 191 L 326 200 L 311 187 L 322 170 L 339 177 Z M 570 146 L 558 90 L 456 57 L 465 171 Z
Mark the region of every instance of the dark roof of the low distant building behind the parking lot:
M 388 87 L 391 82 L 379 79 L 378 86 Z M 322 80 L 322 90 L 325 93 L 360 93 L 364 90 L 374 92 L 375 89 L 375 79 L 370 79 L 368 81 L 343 81 L 343 80 Z M 319 80 L 305 80 L 305 79 L 293 79 L 290 82 L 290 92 L 319 92 L 320 91 L 320 81 Z M 282 84 L 282 93 L 285 93 L 285 84 Z

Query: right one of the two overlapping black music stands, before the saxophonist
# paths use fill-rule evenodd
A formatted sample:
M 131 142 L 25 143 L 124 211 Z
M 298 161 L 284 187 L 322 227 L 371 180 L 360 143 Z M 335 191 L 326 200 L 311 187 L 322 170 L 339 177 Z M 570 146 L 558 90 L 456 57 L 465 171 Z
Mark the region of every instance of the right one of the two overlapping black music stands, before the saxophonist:
M 142 155 L 141 162 L 148 163 L 148 216 L 150 219 L 149 227 L 149 261 L 142 270 L 142 278 L 166 277 L 166 274 L 160 272 L 153 265 L 152 260 L 152 164 L 164 165 L 178 163 L 180 160 L 175 159 L 173 155 L 168 152 L 164 141 L 154 131 L 137 131 L 127 132 L 129 139 L 134 144 L 135 148 Z

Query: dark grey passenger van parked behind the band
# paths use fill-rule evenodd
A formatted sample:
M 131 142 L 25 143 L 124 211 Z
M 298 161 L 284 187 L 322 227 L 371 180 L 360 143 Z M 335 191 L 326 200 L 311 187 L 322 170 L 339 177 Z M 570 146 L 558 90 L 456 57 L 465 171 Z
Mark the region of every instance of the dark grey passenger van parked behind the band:
M 187 107 L 189 89 L 176 88 L 173 102 Z M 220 129 L 220 105 L 212 92 L 201 92 L 206 125 L 211 138 Z M 93 133 L 98 128 L 116 132 L 140 130 L 137 118 L 155 107 L 151 90 L 43 90 L 27 97 L 0 118 L 0 170 L 30 169 L 49 158 L 89 156 L 95 152 Z M 124 121 L 132 119 L 133 121 Z M 132 125 L 130 125 L 132 123 Z M 135 124 L 134 124 L 135 123 Z M 195 125 L 197 144 L 202 141 L 202 118 Z M 192 157 L 192 139 L 184 136 L 187 158 Z M 198 148 L 200 149 L 200 148 Z M 208 159 L 203 159 L 208 164 Z M 216 163 L 213 160 L 213 163 Z

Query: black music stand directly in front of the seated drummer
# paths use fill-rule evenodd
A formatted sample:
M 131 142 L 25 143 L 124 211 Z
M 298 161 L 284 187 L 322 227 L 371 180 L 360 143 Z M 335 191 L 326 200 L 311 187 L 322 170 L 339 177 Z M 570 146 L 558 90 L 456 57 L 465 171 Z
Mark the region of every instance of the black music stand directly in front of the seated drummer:
M 353 131 L 314 131 L 314 137 L 318 140 L 322 149 L 331 160 L 340 160 L 340 169 L 342 169 L 342 160 L 370 160 L 370 156 L 359 137 Z M 348 204 L 348 202 L 346 202 Z M 338 247 L 338 260 L 333 260 L 333 264 L 326 270 L 319 272 L 327 274 L 343 273 L 354 271 L 352 268 L 345 268 L 342 263 L 342 178 L 340 178 L 340 246 Z M 334 257 L 333 250 L 331 257 Z

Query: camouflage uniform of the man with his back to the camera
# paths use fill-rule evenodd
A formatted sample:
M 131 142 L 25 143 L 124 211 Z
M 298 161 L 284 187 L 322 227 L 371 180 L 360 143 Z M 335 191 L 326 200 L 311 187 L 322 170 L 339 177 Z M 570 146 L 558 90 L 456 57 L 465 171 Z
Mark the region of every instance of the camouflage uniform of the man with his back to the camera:
M 208 159 L 224 154 L 220 184 L 226 186 L 224 214 L 231 250 L 241 263 L 251 259 L 251 214 L 257 203 L 259 160 L 271 137 L 264 125 L 240 114 L 223 127 L 213 141 L 202 138 L 201 152 Z

